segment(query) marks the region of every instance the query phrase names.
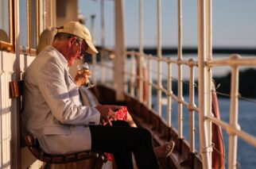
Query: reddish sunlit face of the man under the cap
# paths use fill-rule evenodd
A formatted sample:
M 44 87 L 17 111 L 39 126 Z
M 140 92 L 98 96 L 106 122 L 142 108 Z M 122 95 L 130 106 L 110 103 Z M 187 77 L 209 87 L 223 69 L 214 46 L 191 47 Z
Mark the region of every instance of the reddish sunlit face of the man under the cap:
M 76 60 L 81 60 L 88 45 L 79 37 L 73 36 L 70 40 L 70 48 L 68 50 L 68 66 L 71 67 Z

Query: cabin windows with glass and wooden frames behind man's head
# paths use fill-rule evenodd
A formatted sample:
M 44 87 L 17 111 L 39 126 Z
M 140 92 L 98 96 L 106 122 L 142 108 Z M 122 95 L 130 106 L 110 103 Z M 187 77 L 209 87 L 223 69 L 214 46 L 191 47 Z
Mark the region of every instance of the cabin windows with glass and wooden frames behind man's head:
M 53 1 L 47 2 L 53 3 Z M 14 44 L 19 40 L 17 44 L 20 45 L 21 53 L 36 54 L 40 32 L 45 28 L 46 21 L 52 21 L 51 17 L 46 18 L 47 2 L 46 0 L 0 0 L 0 50 L 14 51 Z M 17 9 L 19 13 L 14 12 Z M 18 34 L 17 30 L 19 30 Z

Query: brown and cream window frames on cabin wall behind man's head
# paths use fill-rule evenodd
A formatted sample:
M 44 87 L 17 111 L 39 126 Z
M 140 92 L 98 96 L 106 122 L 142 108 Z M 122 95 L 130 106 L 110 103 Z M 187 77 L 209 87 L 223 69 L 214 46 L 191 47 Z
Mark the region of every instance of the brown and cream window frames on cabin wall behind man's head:
M 32 6 L 31 2 L 34 2 L 34 6 Z M 48 1 L 48 0 L 25 0 L 26 2 L 26 46 L 21 46 L 16 48 L 16 44 L 20 44 L 17 43 L 17 36 L 18 33 L 20 33 L 20 31 L 18 32 L 18 29 L 20 30 L 20 28 L 18 28 L 17 23 L 21 21 L 21 16 L 20 13 L 17 13 L 15 11 L 20 11 L 20 6 L 19 3 L 17 2 L 17 0 L 8 0 L 8 8 L 9 8 L 9 36 L 10 36 L 10 42 L 4 41 L 4 40 L 0 40 L 0 51 L 6 51 L 6 52 L 17 52 L 16 50 L 19 50 L 20 54 L 27 54 L 29 56 L 36 56 L 36 51 L 37 51 L 37 44 L 38 44 L 38 40 L 39 40 L 39 36 L 41 34 L 41 31 L 43 29 L 45 29 L 46 27 L 48 27 L 47 25 L 52 25 L 52 19 L 50 19 L 49 21 L 46 19 L 47 14 L 45 13 L 50 13 L 52 12 L 52 6 L 55 3 L 54 1 Z M 49 5 L 46 6 L 46 3 L 49 2 Z M 36 8 L 35 13 L 31 13 L 31 8 Z M 32 21 L 32 17 L 31 14 L 35 15 L 35 17 L 33 17 L 33 21 Z M 17 18 L 19 18 L 19 21 L 17 21 Z M 32 34 L 31 30 L 32 30 L 32 26 L 36 26 L 36 28 L 34 28 L 34 33 Z M 35 43 L 36 43 L 36 47 L 33 48 L 32 47 L 32 38 L 35 38 Z

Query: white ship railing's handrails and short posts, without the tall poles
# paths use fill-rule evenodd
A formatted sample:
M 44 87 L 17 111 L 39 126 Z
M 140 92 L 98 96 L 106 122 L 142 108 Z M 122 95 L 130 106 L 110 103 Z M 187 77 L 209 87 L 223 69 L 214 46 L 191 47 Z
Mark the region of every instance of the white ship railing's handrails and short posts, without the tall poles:
M 138 58 L 142 57 L 140 52 L 126 52 L 126 56 L 128 56 L 127 69 L 124 72 L 126 75 L 126 92 L 130 94 L 130 96 L 138 98 L 140 95 L 139 92 L 143 92 L 143 90 L 139 89 L 139 83 L 138 81 L 142 83 L 147 83 L 149 86 L 149 97 L 144 104 L 148 106 L 149 109 L 152 109 L 152 89 L 155 88 L 157 90 L 161 90 L 161 92 L 165 93 L 167 98 L 167 113 L 166 117 L 161 117 L 161 112 L 157 112 L 157 114 L 163 119 L 163 121 L 166 121 L 166 124 L 171 127 L 172 126 L 172 102 L 176 102 L 176 104 L 181 104 L 186 109 L 188 109 L 189 113 L 189 145 L 190 145 L 190 152 L 195 152 L 195 117 L 194 113 L 200 112 L 200 104 L 208 104 L 205 102 L 208 102 L 206 99 L 202 102 L 199 102 L 199 106 L 196 106 L 195 104 L 195 69 L 198 67 L 198 61 L 194 59 L 189 60 L 174 60 L 171 57 L 165 57 L 165 58 L 157 58 L 157 56 L 152 55 L 143 55 L 145 63 L 146 64 L 146 71 L 148 73 L 148 78 L 143 77 L 142 75 L 138 75 L 136 71 L 136 67 L 138 65 Z M 112 56 L 113 57 L 113 56 Z M 167 65 L 167 75 L 162 73 L 162 76 L 166 77 L 167 79 L 167 86 L 160 86 L 157 81 L 153 81 L 152 74 L 156 73 L 156 71 L 153 70 L 152 62 L 157 61 L 161 62 L 162 64 Z M 182 65 L 183 67 L 188 67 L 189 69 L 189 101 L 186 102 L 182 95 L 179 96 L 180 87 L 178 87 L 178 94 L 173 94 L 172 90 L 172 82 L 173 82 L 173 75 L 178 72 L 173 72 L 173 65 Z M 103 66 L 103 70 L 100 72 L 104 72 L 104 74 L 111 75 L 110 73 L 107 73 L 107 69 L 110 69 L 111 71 L 114 70 L 114 66 L 110 63 L 103 63 L 101 64 Z M 226 130 L 228 136 L 229 136 L 229 146 L 228 146 L 228 156 L 229 159 L 229 168 L 235 168 L 237 166 L 237 140 L 238 137 L 242 140 L 245 140 L 248 144 L 253 145 L 256 147 L 256 137 L 251 136 L 249 133 L 246 133 L 245 131 L 242 131 L 239 127 L 239 121 L 238 121 L 238 114 L 239 114 L 239 67 L 256 67 L 256 56 L 251 57 L 241 57 L 239 55 L 231 55 L 225 59 L 221 60 L 208 60 L 205 61 L 204 67 L 206 67 L 208 70 L 213 69 L 214 67 L 223 67 L 223 66 L 230 66 L 231 67 L 231 109 L 230 109 L 230 121 L 229 123 L 219 120 L 211 115 L 206 115 L 204 117 L 204 121 L 211 121 L 215 123 L 216 125 L 219 125 L 222 129 Z M 109 70 L 109 71 L 110 71 Z M 110 71 L 110 72 L 111 72 Z M 158 74 L 157 74 L 158 75 Z M 113 76 L 112 76 L 113 77 Z M 106 77 L 103 79 L 106 79 Z M 101 79 L 101 83 L 107 84 L 106 81 Z M 113 81 L 109 80 L 108 83 L 110 83 L 110 86 L 113 86 Z M 180 85 L 181 86 L 181 85 Z M 213 92 L 211 89 L 208 90 L 208 94 L 211 94 Z M 157 107 L 162 106 L 162 102 L 157 102 Z M 159 110 L 159 109 L 157 109 Z M 178 128 L 181 130 L 183 126 L 183 117 L 179 117 L 178 120 Z M 178 129 L 178 130 L 179 130 Z M 211 135 L 211 131 L 208 130 L 208 134 Z M 179 135 L 179 138 L 183 138 L 183 135 Z M 211 143 L 211 141 L 210 141 Z M 210 146 L 211 148 L 211 146 Z M 212 148 L 211 148 L 212 149 Z M 211 152 L 210 149 L 210 152 Z M 209 160 L 211 161 L 211 160 Z M 209 162 L 210 163 L 210 162 Z

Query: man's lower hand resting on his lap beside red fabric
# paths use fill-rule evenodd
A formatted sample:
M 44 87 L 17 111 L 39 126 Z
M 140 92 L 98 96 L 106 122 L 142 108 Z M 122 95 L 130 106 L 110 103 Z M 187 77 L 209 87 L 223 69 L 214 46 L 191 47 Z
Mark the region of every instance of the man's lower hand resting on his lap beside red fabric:
M 118 109 L 122 109 L 122 106 L 114 106 L 114 105 L 97 105 L 95 106 L 96 109 L 98 109 L 100 113 L 100 122 L 103 125 L 106 125 L 109 123 L 112 125 L 111 121 L 116 121 L 115 117 L 115 111 Z

